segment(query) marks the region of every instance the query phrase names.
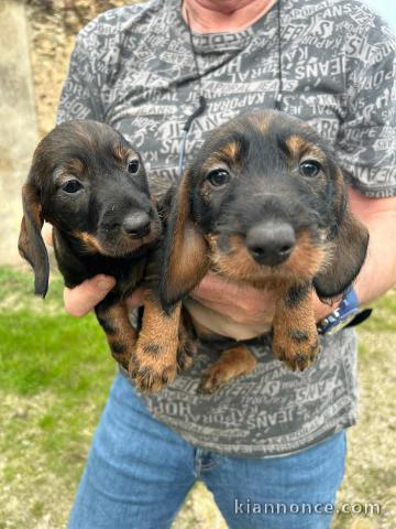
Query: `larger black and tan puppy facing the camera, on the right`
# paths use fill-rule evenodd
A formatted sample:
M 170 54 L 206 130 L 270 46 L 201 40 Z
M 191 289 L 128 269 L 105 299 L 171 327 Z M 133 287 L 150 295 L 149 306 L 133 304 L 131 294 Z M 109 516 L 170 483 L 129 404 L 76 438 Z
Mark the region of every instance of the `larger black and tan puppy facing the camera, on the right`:
M 275 289 L 273 353 L 302 370 L 318 353 L 312 289 L 321 299 L 341 294 L 367 242 L 334 155 L 315 130 L 283 112 L 242 115 L 212 131 L 180 182 L 162 300 L 172 307 L 208 269 Z M 212 392 L 255 364 L 235 342 L 209 368 L 200 391 Z

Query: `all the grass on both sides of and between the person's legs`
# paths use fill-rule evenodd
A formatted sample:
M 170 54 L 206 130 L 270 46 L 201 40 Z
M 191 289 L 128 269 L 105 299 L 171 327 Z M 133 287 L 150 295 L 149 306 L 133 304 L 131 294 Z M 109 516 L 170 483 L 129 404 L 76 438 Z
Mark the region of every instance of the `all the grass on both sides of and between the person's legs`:
M 63 310 L 53 273 L 45 301 L 33 274 L 0 267 L 0 529 L 65 527 L 116 365 L 92 314 Z M 361 418 L 349 433 L 339 501 L 381 501 L 378 517 L 338 515 L 333 529 L 391 529 L 395 497 L 396 292 L 360 331 Z M 198 484 L 174 529 L 227 527 Z

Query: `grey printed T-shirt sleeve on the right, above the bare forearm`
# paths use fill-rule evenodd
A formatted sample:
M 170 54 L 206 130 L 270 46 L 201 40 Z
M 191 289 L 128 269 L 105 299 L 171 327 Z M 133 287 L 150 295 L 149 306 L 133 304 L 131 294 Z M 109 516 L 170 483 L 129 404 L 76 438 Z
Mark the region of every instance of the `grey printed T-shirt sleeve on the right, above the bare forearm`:
M 336 152 L 345 179 L 371 197 L 396 196 L 395 37 L 374 17 L 350 55 L 349 109 Z

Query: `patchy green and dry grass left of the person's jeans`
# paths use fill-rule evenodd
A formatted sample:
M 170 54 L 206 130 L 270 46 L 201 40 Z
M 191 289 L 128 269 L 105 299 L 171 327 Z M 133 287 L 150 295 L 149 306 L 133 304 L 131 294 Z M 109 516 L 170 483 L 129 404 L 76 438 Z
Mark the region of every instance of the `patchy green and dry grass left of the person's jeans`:
M 96 317 L 66 314 L 62 292 L 58 273 L 43 301 L 32 273 L 0 267 L 0 528 L 48 510 L 63 527 L 116 373 Z

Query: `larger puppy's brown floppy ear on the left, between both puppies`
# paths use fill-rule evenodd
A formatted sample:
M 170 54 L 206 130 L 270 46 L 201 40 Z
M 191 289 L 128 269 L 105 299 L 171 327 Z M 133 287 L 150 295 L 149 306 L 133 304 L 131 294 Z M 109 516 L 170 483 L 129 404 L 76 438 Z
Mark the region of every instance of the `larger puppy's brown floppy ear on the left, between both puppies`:
M 185 173 L 174 199 L 165 238 L 161 300 L 165 307 L 179 301 L 204 278 L 209 248 L 191 215 L 190 173 Z

